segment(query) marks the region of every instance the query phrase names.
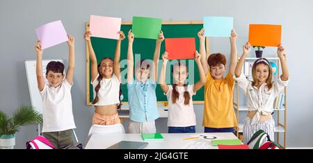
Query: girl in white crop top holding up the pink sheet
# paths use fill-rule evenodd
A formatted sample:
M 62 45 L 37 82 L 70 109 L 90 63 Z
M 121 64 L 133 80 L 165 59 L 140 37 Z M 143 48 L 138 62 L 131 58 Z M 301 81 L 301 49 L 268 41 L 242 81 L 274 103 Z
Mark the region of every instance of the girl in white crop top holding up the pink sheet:
M 116 45 L 114 60 L 112 58 L 103 58 L 99 65 L 90 41 L 90 35 L 92 34 L 90 31 L 84 34 L 90 53 L 91 80 L 94 89 L 93 105 L 95 106 L 95 114 L 93 124 L 113 125 L 120 123 L 117 111 L 121 106 L 120 96 L 122 94 L 120 90 L 120 44 L 125 39 L 125 35 L 122 31 L 118 33 L 120 38 Z

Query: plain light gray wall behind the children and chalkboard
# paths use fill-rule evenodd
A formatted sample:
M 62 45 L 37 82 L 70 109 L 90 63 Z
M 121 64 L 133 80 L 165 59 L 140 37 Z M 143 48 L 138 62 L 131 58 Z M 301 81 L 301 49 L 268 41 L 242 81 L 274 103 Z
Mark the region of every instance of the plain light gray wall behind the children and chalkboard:
M 131 22 L 136 15 L 159 17 L 163 22 L 202 21 L 204 16 L 230 16 L 234 17 L 234 28 L 239 34 L 238 53 L 242 53 L 241 46 L 248 40 L 248 24 L 282 24 L 282 43 L 287 49 L 290 73 L 287 146 L 313 146 L 313 55 L 309 49 L 313 45 L 312 6 L 313 1 L 310 0 L 0 1 L 0 109 L 11 115 L 19 105 L 31 105 L 24 60 L 35 59 L 35 28 L 42 24 L 61 19 L 67 33 L 76 37 L 72 101 L 77 135 L 80 141 L 84 141 L 93 117 L 93 108 L 86 106 L 86 48 L 83 40 L 84 24 L 91 14 L 122 17 L 123 22 Z M 211 39 L 210 53 L 213 52 L 229 55 L 229 40 Z M 275 49 L 266 48 L 264 53 L 267 57 L 275 56 Z M 46 49 L 44 59 L 50 58 L 67 60 L 67 44 Z M 198 117 L 197 132 L 202 132 L 203 106 L 196 105 L 195 112 Z M 166 123 L 166 119 L 157 120 L 158 132 L 167 132 Z M 15 148 L 24 148 L 25 142 L 35 137 L 36 128 L 22 127 L 17 132 Z

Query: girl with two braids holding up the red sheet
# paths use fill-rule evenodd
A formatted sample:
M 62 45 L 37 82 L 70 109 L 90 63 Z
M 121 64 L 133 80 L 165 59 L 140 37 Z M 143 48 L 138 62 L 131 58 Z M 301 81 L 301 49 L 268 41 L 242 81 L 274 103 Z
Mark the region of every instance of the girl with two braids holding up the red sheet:
M 166 85 L 166 65 L 168 52 L 162 55 L 163 66 L 160 76 L 160 85 L 164 94 L 168 97 L 168 133 L 195 132 L 195 112 L 193 111 L 192 96 L 206 82 L 201 55 L 195 51 L 195 62 L 198 65 L 200 80 L 195 85 L 186 85 L 188 68 L 182 62 L 177 62 L 172 68 L 174 78 L 173 85 Z

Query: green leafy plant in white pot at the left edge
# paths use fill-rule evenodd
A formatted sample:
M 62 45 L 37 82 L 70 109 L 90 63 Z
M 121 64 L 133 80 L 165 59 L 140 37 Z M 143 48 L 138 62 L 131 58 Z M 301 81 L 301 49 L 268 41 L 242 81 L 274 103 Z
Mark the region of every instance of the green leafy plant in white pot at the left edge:
M 19 127 L 35 123 L 42 123 L 42 114 L 35 111 L 32 106 L 20 106 L 12 118 L 8 118 L 0 111 L 0 149 L 13 149 L 15 133 L 19 131 Z

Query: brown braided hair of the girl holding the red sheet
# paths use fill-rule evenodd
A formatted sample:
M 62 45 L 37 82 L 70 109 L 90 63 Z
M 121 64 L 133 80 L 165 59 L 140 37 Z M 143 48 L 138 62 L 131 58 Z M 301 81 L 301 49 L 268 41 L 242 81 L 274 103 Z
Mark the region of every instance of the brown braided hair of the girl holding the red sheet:
M 183 62 L 177 62 L 175 63 L 175 65 L 172 67 L 172 74 L 174 73 L 174 67 L 186 67 L 186 70 L 188 69 L 188 67 L 183 63 Z M 177 92 L 177 84 L 173 84 L 172 85 L 172 103 L 176 103 L 176 100 L 179 98 L 179 92 Z M 189 105 L 189 101 L 190 101 L 190 94 L 187 90 L 187 85 L 184 84 L 184 88 L 185 88 L 185 92 L 184 92 L 184 105 Z

